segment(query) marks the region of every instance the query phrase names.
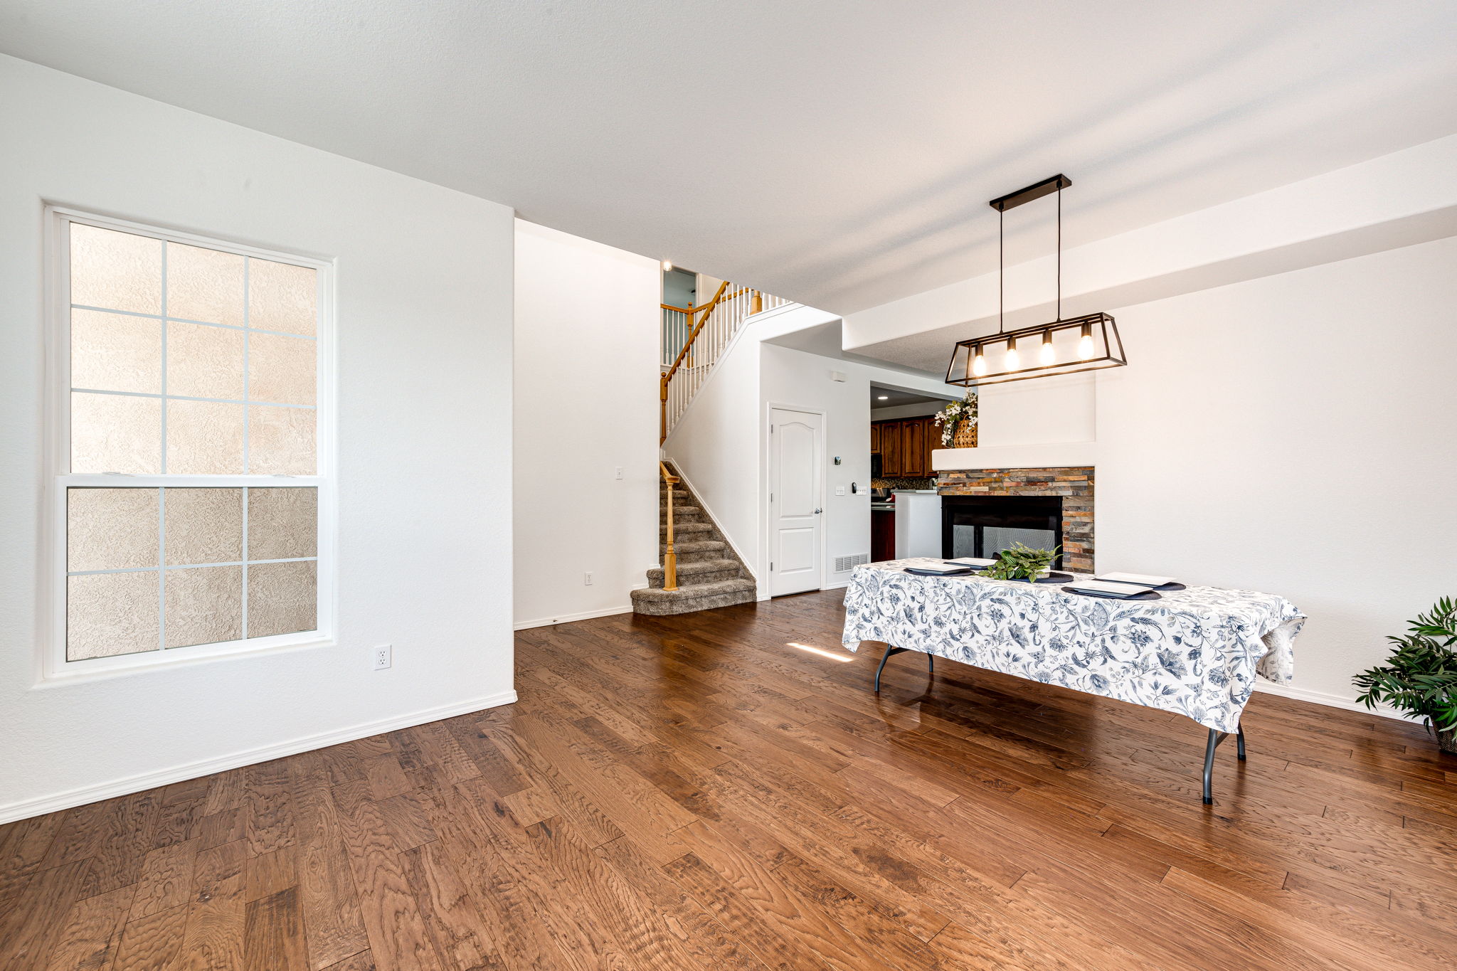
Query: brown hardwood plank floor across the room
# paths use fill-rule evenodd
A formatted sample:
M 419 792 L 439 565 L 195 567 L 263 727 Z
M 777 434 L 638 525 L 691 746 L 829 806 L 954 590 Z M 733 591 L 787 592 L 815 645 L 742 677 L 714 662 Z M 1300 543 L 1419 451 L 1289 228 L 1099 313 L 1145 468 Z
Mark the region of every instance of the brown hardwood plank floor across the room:
M 877 697 L 839 626 L 526 630 L 513 706 L 0 827 L 0 968 L 1453 967 L 1419 728 L 1257 694 L 1203 806 L 1187 719 L 919 655 Z

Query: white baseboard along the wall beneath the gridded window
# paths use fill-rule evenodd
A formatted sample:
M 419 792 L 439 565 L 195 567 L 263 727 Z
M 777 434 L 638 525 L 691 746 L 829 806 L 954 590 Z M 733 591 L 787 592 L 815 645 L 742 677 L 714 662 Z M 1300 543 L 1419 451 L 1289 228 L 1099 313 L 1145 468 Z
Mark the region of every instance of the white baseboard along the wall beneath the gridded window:
M 271 761 L 274 758 L 283 758 L 284 756 L 297 756 L 302 751 L 326 748 L 329 745 L 350 742 L 357 738 L 369 738 L 370 735 L 379 735 L 380 732 L 392 732 L 401 728 L 412 728 L 414 725 L 424 725 L 425 722 L 439 722 L 441 718 L 455 718 L 456 715 L 468 715 L 471 712 L 479 712 L 488 708 L 497 708 L 500 705 L 510 705 L 514 700 L 516 700 L 516 691 L 501 691 L 500 694 L 488 694 L 487 697 L 475 697 L 468 702 L 456 702 L 455 705 L 430 708 L 423 712 L 398 715 L 395 718 L 386 718 L 377 722 L 366 722 L 363 725 L 353 725 L 350 728 L 341 728 L 332 732 L 321 732 L 318 735 L 291 738 L 286 742 L 278 742 L 277 745 L 262 745 L 259 748 L 249 748 L 246 751 L 233 753 L 230 756 L 223 756 L 220 758 L 205 758 L 203 761 L 192 761 L 185 766 L 173 766 L 172 769 L 162 769 L 159 772 L 147 772 L 137 776 L 128 776 L 127 779 L 114 779 L 112 782 L 103 782 L 96 786 L 82 786 L 79 789 L 70 789 L 67 792 L 60 792 L 52 796 L 41 796 L 38 799 L 22 799 L 20 802 L 10 802 L 7 805 L 0 806 L 0 824 L 15 823 L 16 820 L 29 820 L 31 817 L 35 815 L 45 815 L 47 812 L 55 812 L 58 809 L 70 809 L 73 806 L 86 805 L 89 802 L 101 802 L 102 799 L 114 799 L 117 796 L 130 795 L 133 792 L 141 792 L 144 789 L 169 786 L 173 782 L 185 782 L 188 779 L 197 779 L 200 776 L 210 776 L 214 772 L 226 772 L 229 769 L 239 769 L 242 766 L 254 766 L 259 761 Z

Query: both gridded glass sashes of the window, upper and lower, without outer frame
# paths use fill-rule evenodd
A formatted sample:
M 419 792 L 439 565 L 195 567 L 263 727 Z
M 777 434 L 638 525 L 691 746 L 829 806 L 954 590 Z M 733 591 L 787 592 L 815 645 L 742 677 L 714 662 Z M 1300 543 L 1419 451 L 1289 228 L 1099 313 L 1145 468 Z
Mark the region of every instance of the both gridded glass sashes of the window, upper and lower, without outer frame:
M 60 224 L 64 661 L 318 630 L 319 271 Z

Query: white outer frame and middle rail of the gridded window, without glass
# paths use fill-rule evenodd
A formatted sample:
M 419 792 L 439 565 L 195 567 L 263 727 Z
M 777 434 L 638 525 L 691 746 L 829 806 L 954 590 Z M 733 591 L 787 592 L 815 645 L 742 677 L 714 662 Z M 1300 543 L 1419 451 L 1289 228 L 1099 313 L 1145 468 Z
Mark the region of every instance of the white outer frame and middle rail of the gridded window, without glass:
M 315 403 L 315 456 L 312 476 L 270 475 L 117 475 L 117 473 L 73 473 L 70 472 L 70 226 L 82 223 L 101 229 L 150 236 L 188 246 L 203 246 L 240 256 L 254 256 L 280 263 L 307 266 L 316 271 L 318 294 L 315 330 L 316 381 Z M 259 249 L 229 240 L 178 231 L 143 223 L 98 215 L 61 205 L 45 207 L 45 448 L 44 448 L 44 539 L 41 556 L 41 651 L 36 687 L 70 684 L 103 677 L 136 674 L 163 667 L 198 664 L 264 652 L 296 651 L 305 648 L 332 646 L 337 623 L 337 456 L 335 456 L 335 326 L 334 326 L 334 261 L 299 253 L 284 253 Z M 166 277 L 163 275 L 163 285 Z M 165 310 L 165 307 L 163 307 Z M 163 367 L 166 362 L 163 361 Z M 246 367 L 246 365 L 245 365 Z M 160 648 L 138 654 L 122 654 L 108 658 L 67 659 L 66 654 L 66 491 L 77 486 L 117 488 L 277 488 L 312 486 L 318 489 L 318 626 L 315 630 L 248 638 L 184 648 Z M 246 550 L 245 550 L 246 555 Z M 159 563 L 159 569 L 166 569 Z M 165 627 L 166 617 L 162 616 Z

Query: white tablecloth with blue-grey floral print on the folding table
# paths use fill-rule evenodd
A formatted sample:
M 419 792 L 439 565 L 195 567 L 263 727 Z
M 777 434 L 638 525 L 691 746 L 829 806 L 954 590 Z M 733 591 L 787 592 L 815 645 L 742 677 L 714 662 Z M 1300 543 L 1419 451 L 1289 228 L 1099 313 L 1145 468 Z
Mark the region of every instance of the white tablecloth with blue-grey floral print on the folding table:
M 1305 614 L 1284 597 L 1189 587 L 1161 600 L 1103 600 L 1058 584 L 922 576 L 902 559 L 857 566 L 845 646 L 880 641 L 1033 681 L 1238 728 L 1256 674 L 1287 684 Z

